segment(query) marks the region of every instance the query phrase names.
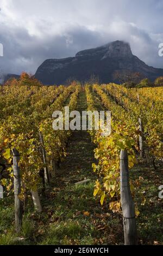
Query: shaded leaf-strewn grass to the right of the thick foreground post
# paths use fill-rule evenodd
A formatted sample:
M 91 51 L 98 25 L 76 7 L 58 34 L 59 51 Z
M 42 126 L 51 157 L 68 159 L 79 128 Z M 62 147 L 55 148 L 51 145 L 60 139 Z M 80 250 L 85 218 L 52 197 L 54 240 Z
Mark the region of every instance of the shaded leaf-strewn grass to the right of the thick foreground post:
M 139 183 L 135 186 L 135 202 L 140 211 L 137 229 L 142 244 L 153 245 L 158 242 L 163 245 L 163 200 L 158 197 L 162 174 L 163 170 L 154 170 L 143 165 L 136 166 L 131 171 L 131 179 Z

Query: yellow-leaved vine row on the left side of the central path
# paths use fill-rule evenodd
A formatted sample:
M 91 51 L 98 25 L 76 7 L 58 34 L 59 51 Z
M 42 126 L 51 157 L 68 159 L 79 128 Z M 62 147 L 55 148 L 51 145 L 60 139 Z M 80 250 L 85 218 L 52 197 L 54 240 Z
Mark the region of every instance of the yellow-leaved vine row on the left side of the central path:
M 57 94 L 56 90 L 58 90 Z M 55 89 L 48 87 L 48 91 L 51 91 L 52 93 L 49 98 L 45 97 L 46 102 L 47 99 L 49 99 L 49 102 L 45 104 L 44 98 L 42 98 L 42 100 L 37 98 L 37 103 L 40 103 L 36 103 L 37 108 L 35 108 L 35 104 L 33 104 L 34 108 L 32 114 L 25 116 L 23 112 L 20 112 L 17 115 L 9 116 L 0 126 L 1 158 L 3 156 L 3 158 L 8 160 L 8 172 L 10 173 L 10 180 L 3 179 L 1 180 L 1 183 L 8 189 L 12 186 L 11 148 L 17 148 L 18 152 L 20 152 L 20 168 L 23 184 L 22 197 L 24 197 L 26 190 L 36 189 L 37 184 L 40 182 L 39 170 L 43 167 L 43 163 L 42 153 L 40 150 L 39 129 L 41 129 L 43 122 L 46 122 L 48 118 L 51 118 L 52 120 L 52 112 L 55 109 L 61 109 L 66 102 L 66 99 L 71 93 L 76 91 L 76 88 L 73 86 L 69 86 L 67 88 L 61 86 Z M 61 94 L 56 98 L 59 93 Z M 51 100 L 53 100 L 53 102 L 51 102 Z M 57 148 L 58 141 L 57 139 L 55 140 L 57 136 L 52 129 L 50 135 L 53 137 L 53 144 L 55 145 L 55 148 Z M 62 146 L 60 147 L 60 150 L 61 148 Z

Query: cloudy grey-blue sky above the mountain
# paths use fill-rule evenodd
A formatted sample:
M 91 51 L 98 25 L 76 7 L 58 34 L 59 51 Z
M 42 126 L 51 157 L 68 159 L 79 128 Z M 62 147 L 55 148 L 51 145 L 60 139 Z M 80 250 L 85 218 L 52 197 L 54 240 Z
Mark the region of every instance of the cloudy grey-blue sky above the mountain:
M 163 68 L 163 0 L 0 0 L 5 73 L 34 74 L 47 58 L 125 40 L 134 55 Z

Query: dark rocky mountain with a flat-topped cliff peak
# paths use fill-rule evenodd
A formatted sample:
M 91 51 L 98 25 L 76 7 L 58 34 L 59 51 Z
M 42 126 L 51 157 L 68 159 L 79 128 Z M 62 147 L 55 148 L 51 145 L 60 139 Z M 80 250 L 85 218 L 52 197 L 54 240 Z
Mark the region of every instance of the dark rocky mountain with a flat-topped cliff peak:
M 95 49 L 80 51 L 75 57 L 47 59 L 37 69 L 35 78 L 43 84 L 52 85 L 64 84 L 70 78 L 86 81 L 95 75 L 100 82 L 108 83 L 115 81 L 115 72 L 121 70 L 140 72 L 152 81 L 163 75 L 163 69 L 149 67 L 134 56 L 128 43 L 114 41 Z

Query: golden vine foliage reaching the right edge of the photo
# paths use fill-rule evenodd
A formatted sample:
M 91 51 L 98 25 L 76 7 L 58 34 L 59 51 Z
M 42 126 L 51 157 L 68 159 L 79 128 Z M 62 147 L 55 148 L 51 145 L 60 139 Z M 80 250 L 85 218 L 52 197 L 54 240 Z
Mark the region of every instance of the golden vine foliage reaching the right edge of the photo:
M 163 138 L 162 102 L 158 101 L 152 106 L 152 99 L 151 102 L 148 103 L 144 101 L 145 97 L 140 96 L 141 94 L 139 94 L 139 102 L 137 102 L 136 100 L 132 100 L 133 94 L 130 93 L 130 89 L 125 88 L 124 90 L 122 86 L 115 84 L 103 86 L 103 90 L 109 93 L 109 96 L 117 102 L 117 105 L 120 105 L 120 108 L 122 107 L 126 110 L 129 118 L 133 120 L 133 122 L 136 123 L 137 120 L 141 118 L 144 148 L 146 149 L 146 153 L 148 153 L 147 157 L 160 159 L 162 156 L 161 141 Z M 144 88 L 144 90 L 146 90 L 146 88 Z M 126 92 L 124 93 L 124 91 Z

